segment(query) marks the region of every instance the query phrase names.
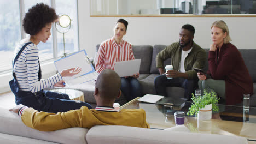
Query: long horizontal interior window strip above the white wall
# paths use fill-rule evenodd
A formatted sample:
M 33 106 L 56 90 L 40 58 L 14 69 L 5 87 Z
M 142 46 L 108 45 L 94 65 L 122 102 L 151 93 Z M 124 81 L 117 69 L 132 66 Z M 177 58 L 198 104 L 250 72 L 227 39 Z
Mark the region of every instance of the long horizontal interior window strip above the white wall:
M 256 0 L 90 0 L 91 15 L 256 14 Z

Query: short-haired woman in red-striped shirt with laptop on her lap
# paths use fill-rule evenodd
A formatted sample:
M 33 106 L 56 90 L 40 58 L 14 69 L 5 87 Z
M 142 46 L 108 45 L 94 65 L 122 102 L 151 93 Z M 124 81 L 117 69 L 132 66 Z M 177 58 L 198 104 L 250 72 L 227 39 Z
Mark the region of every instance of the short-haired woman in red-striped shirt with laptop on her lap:
M 115 62 L 134 59 L 131 44 L 123 40 L 127 26 L 126 20 L 119 19 L 114 27 L 114 36 L 101 43 L 95 59 L 95 68 L 98 73 L 104 69 L 114 70 Z M 121 77 L 121 91 L 128 101 L 140 97 L 142 94 L 138 77 L 139 73 L 129 77 Z

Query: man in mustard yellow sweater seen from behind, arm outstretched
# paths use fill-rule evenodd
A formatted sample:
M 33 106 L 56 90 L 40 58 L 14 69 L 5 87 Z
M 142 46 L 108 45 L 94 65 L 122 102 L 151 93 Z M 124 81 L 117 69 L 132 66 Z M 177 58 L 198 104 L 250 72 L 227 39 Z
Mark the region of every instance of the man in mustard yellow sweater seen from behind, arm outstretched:
M 105 69 L 95 81 L 94 98 L 97 106 L 88 109 L 48 113 L 38 112 L 24 105 L 15 106 L 9 111 L 18 113 L 22 122 L 28 127 L 41 131 L 53 131 L 71 127 L 91 128 L 94 125 L 125 125 L 149 128 L 143 109 L 123 109 L 120 112 L 113 107 L 116 98 L 121 95 L 121 79 L 115 71 Z

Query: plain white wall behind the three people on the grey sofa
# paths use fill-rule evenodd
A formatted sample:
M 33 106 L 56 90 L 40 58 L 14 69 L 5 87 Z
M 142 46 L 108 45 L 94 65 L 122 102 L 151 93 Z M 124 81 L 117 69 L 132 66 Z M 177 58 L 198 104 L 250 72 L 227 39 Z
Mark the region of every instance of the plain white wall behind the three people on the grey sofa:
M 90 2 L 78 0 L 79 43 L 89 56 L 94 56 L 96 45 L 113 36 L 119 17 L 90 17 Z M 133 45 L 169 45 L 179 39 L 182 25 L 190 23 L 196 29 L 195 43 L 203 48 L 211 44 L 210 27 L 216 20 L 224 20 L 230 29 L 231 43 L 238 49 L 255 49 L 256 17 L 125 17 L 129 22 L 123 37 Z

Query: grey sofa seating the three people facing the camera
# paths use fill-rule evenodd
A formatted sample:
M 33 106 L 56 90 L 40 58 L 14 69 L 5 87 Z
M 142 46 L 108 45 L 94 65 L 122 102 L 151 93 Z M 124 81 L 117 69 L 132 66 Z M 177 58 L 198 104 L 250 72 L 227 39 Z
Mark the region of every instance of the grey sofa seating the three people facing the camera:
M 98 47 L 96 49 L 98 50 Z M 156 94 L 154 88 L 154 79 L 159 75 L 159 71 L 156 68 L 155 57 L 156 55 L 166 47 L 167 45 L 133 45 L 133 53 L 135 55 L 135 59 L 141 59 L 141 68 L 140 68 L 140 76 L 139 83 L 141 83 L 142 94 Z M 208 49 L 205 49 L 206 56 L 208 58 Z M 249 73 L 253 79 L 254 92 L 256 92 L 256 59 L 254 56 L 256 55 L 255 49 L 240 49 L 240 52 L 245 60 L 246 66 L 249 70 Z M 164 62 L 164 65 L 168 65 L 171 63 L 171 59 L 167 59 Z M 208 69 L 208 62 L 206 59 L 205 71 Z M 94 93 L 94 82 L 83 83 L 82 85 L 72 86 L 69 88 L 79 89 L 84 92 L 85 101 L 91 104 L 96 104 L 96 101 L 93 97 Z M 184 89 L 179 87 L 168 87 L 167 88 L 168 97 L 183 97 Z M 127 103 L 123 95 L 117 99 L 117 103 L 121 105 Z M 256 106 L 256 93 L 251 96 L 250 100 L 251 106 Z M 242 105 L 242 104 L 240 104 Z

